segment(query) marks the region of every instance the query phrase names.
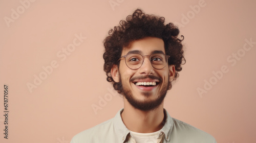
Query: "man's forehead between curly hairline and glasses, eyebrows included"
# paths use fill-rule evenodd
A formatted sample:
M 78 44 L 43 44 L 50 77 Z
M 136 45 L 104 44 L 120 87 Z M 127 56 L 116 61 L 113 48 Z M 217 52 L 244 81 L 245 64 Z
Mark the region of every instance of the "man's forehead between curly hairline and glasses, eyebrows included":
M 158 51 L 165 54 L 164 42 L 162 39 L 157 37 L 145 37 L 143 39 L 135 40 L 127 47 L 123 47 L 122 55 L 126 55 L 131 51 L 137 51 L 142 55 L 151 55 Z

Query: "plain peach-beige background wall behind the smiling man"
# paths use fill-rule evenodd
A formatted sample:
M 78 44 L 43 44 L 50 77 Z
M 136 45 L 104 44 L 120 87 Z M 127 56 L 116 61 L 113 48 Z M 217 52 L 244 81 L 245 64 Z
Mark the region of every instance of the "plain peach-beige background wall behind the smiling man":
M 164 16 L 185 36 L 187 63 L 167 93 L 169 114 L 217 142 L 255 142 L 255 6 L 249 0 L 1 0 L 0 142 L 66 143 L 112 118 L 123 103 L 105 80 L 102 41 L 136 8 Z M 75 35 L 87 38 L 79 41 Z M 67 48 L 73 52 L 64 59 L 61 50 Z M 51 62 L 54 68 L 44 75 Z M 35 85 L 39 76 L 43 80 Z M 8 139 L 4 84 L 9 86 Z M 36 88 L 30 91 L 27 84 Z

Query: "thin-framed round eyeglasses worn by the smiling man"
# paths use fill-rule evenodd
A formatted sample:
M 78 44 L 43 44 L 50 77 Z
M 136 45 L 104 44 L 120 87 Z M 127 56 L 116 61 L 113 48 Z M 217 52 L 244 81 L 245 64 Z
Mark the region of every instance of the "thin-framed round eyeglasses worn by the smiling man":
M 138 69 L 143 64 L 144 57 L 146 56 L 150 57 L 151 65 L 156 69 L 164 68 L 167 64 L 167 59 L 170 57 L 162 53 L 156 53 L 156 54 L 152 54 L 151 56 L 149 55 L 142 56 L 140 54 L 127 54 L 122 56 L 121 58 L 125 58 L 125 64 L 129 68 Z M 121 58 L 119 60 L 121 60 Z

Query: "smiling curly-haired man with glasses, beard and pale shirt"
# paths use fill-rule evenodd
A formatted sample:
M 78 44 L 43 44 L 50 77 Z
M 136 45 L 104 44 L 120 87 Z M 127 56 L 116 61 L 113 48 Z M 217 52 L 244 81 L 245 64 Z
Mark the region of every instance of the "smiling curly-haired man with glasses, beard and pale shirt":
M 163 100 L 185 59 L 179 30 L 164 18 L 137 9 L 104 40 L 107 80 L 124 98 L 114 118 L 80 132 L 82 142 L 197 142 L 215 138 L 170 117 Z M 183 36 L 181 36 L 183 38 Z

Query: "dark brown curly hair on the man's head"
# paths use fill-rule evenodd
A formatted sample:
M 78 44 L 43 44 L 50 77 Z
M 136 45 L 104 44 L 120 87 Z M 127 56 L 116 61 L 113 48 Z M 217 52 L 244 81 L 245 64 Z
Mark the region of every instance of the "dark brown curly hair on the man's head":
M 121 20 L 120 25 L 109 31 L 103 43 L 105 52 L 103 54 L 104 71 L 106 72 L 106 80 L 112 82 L 114 89 L 118 93 L 122 93 L 121 82 L 115 82 L 111 76 L 111 68 L 114 64 L 119 66 L 118 59 L 121 57 L 123 47 L 129 46 L 132 41 L 142 39 L 144 37 L 157 37 L 164 41 L 165 54 L 169 55 L 169 65 L 175 65 L 175 79 L 179 76 L 178 71 L 181 71 L 181 64 L 184 64 L 182 39 L 178 38 L 179 29 L 173 23 L 164 24 L 164 17 L 156 15 L 148 15 L 137 9 L 133 15 L 128 15 L 126 20 Z M 182 63 L 184 61 L 184 63 Z M 172 84 L 169 83 L 169 88 Z

